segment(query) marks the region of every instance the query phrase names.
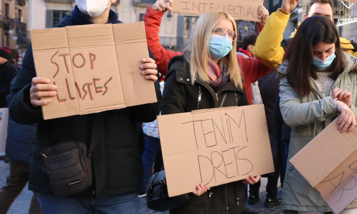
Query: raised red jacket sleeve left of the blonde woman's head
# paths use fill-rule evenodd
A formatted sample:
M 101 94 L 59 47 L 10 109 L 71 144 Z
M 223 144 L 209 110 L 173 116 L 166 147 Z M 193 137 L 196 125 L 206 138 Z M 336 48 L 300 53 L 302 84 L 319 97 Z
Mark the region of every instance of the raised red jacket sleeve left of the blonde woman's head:
M 155 61 L 159 72 L 166 75 L 167 64 L 172 57 L 181 55 L 181 52 L 166 50 L 160 44 L 160 24 L 162 21 L 163 12 L 154 10 L 147 6 L 144 18 L 147 46 L 155 56 Z

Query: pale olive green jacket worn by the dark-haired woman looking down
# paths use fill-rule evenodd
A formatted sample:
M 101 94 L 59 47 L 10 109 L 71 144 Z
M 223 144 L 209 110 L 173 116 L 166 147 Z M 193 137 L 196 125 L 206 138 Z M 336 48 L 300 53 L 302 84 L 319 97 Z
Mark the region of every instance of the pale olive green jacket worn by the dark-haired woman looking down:
M 357 59 L 345 52 L 344 56 L 347 62 L 346 69 L 338 76 L 333 88 L 347 89 L 352 93 L 351 109 L 357 115 L 357 74 L 351 71 Z M 287 67 L 288 61 L 284 61 L 278 68 L 278 72 L 285 75 Z M 281 114 L 285 123 L 292 127 L 288 160 L 330 124 L 332 117 L 338 115 L 331 96 L 332 91 L 325 95 L 314 79 L 310 78 L 310 81 L 315 93 L 302 97 L 288 84 L 285 76 L 280 80 Z M 282 200 L 283 213 L 296 213 L 292 210 L 332 211 L 320 193 L 303 178 L 290 161 L 287 163 Z M 357 208 L 357 199 L 347 208 Z

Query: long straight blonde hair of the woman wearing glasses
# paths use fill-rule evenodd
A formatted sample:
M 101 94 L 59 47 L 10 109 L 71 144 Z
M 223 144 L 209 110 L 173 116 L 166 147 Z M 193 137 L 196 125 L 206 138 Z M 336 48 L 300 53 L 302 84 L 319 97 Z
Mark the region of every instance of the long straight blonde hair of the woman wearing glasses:
M 196 21 L 190 37 L 183 49 L 185 58 L 190 63 L 191 83 L 195 83 L 196 78 L 209 83 L 208 61 L 210 52 L 208 44 L 211 38 L 213 28 L 222 19 L 228 19 L 233 24 L 233 30 L 237 32 L 236 21 L 230 14 L 223 11 L 210 11 L 202 14 Z M 242 71 L 237 60 L 237 43 L 233 41 L 233 49 L 224 58 L 219 61 L 219 66 L 227 68 L 227 75 L 237 88 L 243 88 Z

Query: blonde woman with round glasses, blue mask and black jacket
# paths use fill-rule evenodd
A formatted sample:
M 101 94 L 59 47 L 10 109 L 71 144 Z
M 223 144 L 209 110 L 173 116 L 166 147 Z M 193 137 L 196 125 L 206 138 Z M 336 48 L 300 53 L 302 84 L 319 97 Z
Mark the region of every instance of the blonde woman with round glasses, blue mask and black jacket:
M 248 105 L 236 55 L 237 26 L 231 15 L 208 12 L 197 19 L 183 54 L 169 62 L 163 91 L 162 115 L 227 106 Z M 247 59 L 246 66 L 254 60 Z M 207 188 L 197 184 L 184 206 L 171 214 L 238 214 L 243 211 L 244 181 Z

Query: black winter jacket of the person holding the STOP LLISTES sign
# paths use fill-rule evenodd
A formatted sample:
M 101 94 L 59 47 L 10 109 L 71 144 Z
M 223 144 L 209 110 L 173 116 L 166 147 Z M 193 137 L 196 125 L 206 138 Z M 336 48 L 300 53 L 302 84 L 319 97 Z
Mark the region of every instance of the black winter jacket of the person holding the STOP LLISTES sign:
M 71 16 L 66 16 L 59 26 L 74 23 L 75 20 Z M 154 59 L 150 50 L 149 55 Z M 103 198 L 108 195 L 139 191 L 142 186 L 143 171 L 135 121 L 147 123 L 154 121 L 159 115 L 162 100 L 159 81 L 155 83 L 157 103 L 103 113 L 43 120 L 41 108 L 32 106 L 30 102 L 31 79 L 35 76 L 34 58 L 30 45 L 24 56 L 22 68 L 7 96 L 12 120 L 20 124 L 39 123 L 34 159 L 30 166 L 29 189 L 39 193 L 53 194 L 49 180 L 39 165 L 39 153 L 45 147 L 64 141 L 79 141 L 89 148 L 92 133 L 97 131 L 93 130 L 96 123 L 95 115 L 103 114 L 105 116 L 105 122 L 102 125 L 104 131 L 92 155 L 93 185 L 80 195 Z M 46 136 L 49 140 L 46 140 Z

